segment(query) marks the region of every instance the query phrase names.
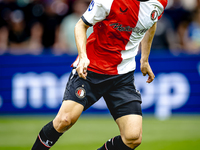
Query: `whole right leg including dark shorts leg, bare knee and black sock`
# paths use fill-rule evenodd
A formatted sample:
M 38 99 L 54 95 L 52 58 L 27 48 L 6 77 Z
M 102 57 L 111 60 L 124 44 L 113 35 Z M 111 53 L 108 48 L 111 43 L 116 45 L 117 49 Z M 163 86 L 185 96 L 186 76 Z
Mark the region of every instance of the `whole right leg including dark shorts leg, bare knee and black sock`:
M 113 83 L 104 99 L 121 135 L 108 140 L 98 150 L 132 150 L 142 139 L 141 95 L 133 84 L 133 72 L 119 75 Z

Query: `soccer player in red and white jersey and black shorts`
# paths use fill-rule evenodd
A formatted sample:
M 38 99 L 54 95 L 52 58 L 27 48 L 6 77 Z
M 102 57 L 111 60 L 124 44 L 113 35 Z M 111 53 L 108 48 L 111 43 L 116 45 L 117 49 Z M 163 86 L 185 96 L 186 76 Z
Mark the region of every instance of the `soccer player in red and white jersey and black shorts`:
M 72 64 L 63 103 L 40 131 L 32 150 L 48 150 L 82 111 L 104 97 L 120 135 L 98 150 L 133 150 L 142 140 L 141 95 L 134 86 L 135 56 L 141 43 L 141 72 L 154 80 L 148 62 L 156 22 L 167 0 L 93 0 L 75 26 L 79 56 Z M 86 39 L 87 29 L 94 32 Z M 98 136 L 97 136 L 98 138 Z

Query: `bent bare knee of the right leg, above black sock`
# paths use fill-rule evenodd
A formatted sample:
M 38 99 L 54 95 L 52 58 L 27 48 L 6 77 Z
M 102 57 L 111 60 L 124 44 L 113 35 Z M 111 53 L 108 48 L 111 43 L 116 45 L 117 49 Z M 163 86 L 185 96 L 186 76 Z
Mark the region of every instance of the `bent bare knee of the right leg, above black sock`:
M 124 135 L 123 139 L 127 145 L 133 145 L 133 147 L 137 147 L 142 142 L 142 134 L 141 133 L 128 133 L 128 134 Z

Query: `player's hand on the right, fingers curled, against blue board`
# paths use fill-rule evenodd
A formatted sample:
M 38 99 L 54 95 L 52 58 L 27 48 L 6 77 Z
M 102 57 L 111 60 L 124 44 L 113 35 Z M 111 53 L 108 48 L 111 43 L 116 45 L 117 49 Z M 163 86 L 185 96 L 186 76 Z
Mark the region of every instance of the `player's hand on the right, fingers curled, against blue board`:
M 147 74 L 149 75 L 146 82 L 151 83 L 154 80 L 155 75 L 149 65 L 149 62 L 141 62 L 140 69 L 141 69 L 143 76 L 146 76 Z

